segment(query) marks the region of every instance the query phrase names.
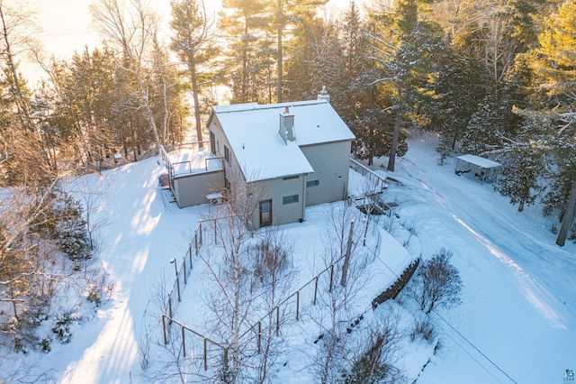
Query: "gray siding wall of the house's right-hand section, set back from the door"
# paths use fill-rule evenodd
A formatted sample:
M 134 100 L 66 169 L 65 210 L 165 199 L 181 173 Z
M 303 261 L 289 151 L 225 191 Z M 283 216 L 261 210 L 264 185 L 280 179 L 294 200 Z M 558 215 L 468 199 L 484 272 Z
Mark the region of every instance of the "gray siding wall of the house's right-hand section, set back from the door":
M 306 187 L 306 206 L 347 198 L 351 142 L 329 142 L 301 147 L 314 173 L 308 181 L 319 180 L 318 187 Z

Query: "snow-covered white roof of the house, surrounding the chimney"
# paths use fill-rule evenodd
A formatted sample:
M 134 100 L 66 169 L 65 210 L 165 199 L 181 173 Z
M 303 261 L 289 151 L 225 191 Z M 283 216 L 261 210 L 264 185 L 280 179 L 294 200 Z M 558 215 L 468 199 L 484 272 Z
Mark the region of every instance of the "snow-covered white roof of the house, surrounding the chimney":
M 294 115 L 296 142 L 278 133 L 280 114 Z M 248 182 L 312 173 L 300 147 L 355 139 L 326 100 L 275 105 L 220 105 L 213 108 Z

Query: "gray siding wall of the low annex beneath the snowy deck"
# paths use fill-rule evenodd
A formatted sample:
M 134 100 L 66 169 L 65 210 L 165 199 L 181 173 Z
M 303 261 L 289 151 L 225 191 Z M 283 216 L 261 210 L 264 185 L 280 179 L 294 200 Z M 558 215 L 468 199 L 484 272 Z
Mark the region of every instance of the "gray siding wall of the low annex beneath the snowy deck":
M 207 204 L 206 195 L 221 192 L 224 187 L 224 171 L 197 173 L 174 178 L 174 197 L 179 207 Z

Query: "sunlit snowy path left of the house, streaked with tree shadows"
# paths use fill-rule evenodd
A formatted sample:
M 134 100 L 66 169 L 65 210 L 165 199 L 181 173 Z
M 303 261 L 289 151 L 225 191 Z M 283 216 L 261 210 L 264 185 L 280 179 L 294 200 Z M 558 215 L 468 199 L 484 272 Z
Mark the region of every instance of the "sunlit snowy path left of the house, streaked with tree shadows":
M 157 187 L 157 177 L 165 171 L 156 159 L 148 159 L 107 171 L 96 180 L 107 192 L 102 209 L 111 223 L 103 228 L 99 258 L 115 283 L 114 295 L 98 311 L 97 320 L 73 335 L 62 354 L 48 355 L 55 359 L 51 366 L 59 383 L 142 382 L 143 316 L 161 281 L 173 279 L 169 261 L 184 254 L 185 236 L 204 209 L 167 203 Z

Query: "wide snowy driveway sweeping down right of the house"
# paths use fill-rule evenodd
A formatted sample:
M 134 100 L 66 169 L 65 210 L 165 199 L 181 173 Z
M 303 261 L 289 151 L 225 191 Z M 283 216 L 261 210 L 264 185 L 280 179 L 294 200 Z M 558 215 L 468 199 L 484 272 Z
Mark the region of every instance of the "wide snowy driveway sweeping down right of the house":
M 388 198 L 415 224 L 425 257 L 454 252 L 464 304 L 442 315 L 471 344 L 437 319 L 443 348 L 419 382 L 560 382 L 576 368 L 574 244 L 554 245 L 538 207 L 518 213 L 490 185 L 456 176 L 454 164 L 438 167 L 433 148 L 410 142 L 394 175 L 410 192 L 391 188 Z

